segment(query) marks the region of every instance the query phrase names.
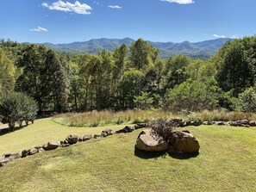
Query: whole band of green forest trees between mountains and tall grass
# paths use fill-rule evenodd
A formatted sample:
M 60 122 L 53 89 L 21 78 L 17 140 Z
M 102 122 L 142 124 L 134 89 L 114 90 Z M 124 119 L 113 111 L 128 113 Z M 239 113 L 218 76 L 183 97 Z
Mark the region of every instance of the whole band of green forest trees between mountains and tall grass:
M 255 36 L 227 41 L 208 60 L 184 54 L 161 59 L 159 49 L 142 39 L 97 54 L 57 53 L 2 40 L 0 96 L 3 101 L 9 91 L 22 92 L 37 102 L 40 113 L 131 108 L 255 112 L 255 53 Z

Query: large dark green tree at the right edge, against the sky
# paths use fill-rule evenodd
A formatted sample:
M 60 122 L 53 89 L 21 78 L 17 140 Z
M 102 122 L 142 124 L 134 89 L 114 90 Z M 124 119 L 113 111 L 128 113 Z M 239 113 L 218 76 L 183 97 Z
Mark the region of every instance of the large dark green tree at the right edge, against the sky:
M 215 55 L 216 80 L 222 90 L 234 90 L 236 97 L 255 81 L 255 39 L 228 41 Z

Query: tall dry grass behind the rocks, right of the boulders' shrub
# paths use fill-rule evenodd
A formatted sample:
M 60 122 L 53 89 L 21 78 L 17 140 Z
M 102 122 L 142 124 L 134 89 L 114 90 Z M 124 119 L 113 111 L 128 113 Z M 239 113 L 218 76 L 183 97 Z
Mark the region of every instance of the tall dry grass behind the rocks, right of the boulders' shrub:
M 256 120 L 256 114 L 243 113 L 243 112 L 228 112 L 227 109 L 218 110 L 204 110 L 201 113 L 189 115 L 190 120 L 203 120 L 203 121 L 238 121 L 238 120 Z

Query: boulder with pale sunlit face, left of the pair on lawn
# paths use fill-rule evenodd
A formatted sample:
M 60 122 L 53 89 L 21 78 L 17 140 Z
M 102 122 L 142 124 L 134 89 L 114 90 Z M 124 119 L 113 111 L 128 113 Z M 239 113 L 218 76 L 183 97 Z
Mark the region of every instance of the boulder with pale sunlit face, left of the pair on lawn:
M 165 152 L 168 149 L 168 143 L 156 137 L 152 129 L 146 129 L 139 134 L 136 148 L 145 152 Z

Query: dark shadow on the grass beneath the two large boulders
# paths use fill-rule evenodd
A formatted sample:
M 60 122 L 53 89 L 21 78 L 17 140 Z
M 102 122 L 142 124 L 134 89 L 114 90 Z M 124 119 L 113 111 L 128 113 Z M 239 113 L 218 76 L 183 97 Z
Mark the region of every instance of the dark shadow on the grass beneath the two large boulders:
M 149 158 L 166 158 L 167 155 L 169 155 L 171 158 L 176 158 L 180 160 L 184 159 L 189 159 L 189 158 L 197 158 L 199 155 L 199 152 L 196 153 L 177 153 L 177 152 L 144 152 L 136 148 L 134 146 L 134 155 L 137 156 L 138 158 L 144 158 L 144 159 L 149 159 Z

